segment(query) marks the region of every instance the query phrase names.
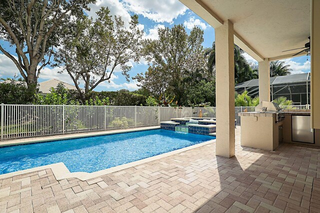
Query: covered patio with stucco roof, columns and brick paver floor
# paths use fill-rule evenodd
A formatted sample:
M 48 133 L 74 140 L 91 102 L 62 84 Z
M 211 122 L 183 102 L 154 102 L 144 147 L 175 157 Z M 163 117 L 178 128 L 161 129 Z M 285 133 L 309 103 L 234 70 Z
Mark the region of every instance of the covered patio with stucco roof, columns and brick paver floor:
M 235 43 L 258 61 L 259 97 L 270 101 L 269 61 L 311 36 L 311 128 L 320 129 L 320 1 L 180 1 L 215 28 L 216 141 L 85 181 L 51 169 L 6 177 L 0 213 L 320 212 L 317 146 L 240 146 L 233 59 Z

